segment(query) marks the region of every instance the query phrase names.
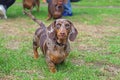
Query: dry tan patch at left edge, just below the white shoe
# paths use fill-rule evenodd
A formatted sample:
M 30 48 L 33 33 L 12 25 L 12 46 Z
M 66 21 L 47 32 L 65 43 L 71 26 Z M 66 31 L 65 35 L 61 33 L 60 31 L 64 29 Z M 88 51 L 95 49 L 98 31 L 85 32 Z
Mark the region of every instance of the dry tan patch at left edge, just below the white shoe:
M 28 20 L 19 19 L 19 18 L 15 19 L 14 21 L 7 20 L 4 23 L 0 24 L 1 31 L 3 33 L 5 33 L 6 35 L 10 35 L 10 36 L 12 36 L 12 35 L 14 35 L 14 36 L 31 35 L 28 30 L 29 30 L 29 28 L 35 28 L 35 27 L 37 27 L 36 24 L 28 24 Z

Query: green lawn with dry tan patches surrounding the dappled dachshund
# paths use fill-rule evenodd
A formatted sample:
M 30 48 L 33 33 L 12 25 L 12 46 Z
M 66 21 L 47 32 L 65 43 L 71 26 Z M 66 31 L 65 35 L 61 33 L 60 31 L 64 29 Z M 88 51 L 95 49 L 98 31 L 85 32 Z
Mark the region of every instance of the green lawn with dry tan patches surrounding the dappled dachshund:
M 73 16 L 63 18 L 72 21 L 79 34 L 71 42 L 66 62 L 52 74 L 40 50 L 40 57 L 33 58 L 32 39 L 38 25 L 23 15 L 17 0 L 7 11 L 8 19 L 0 20 L 0 80 L 119 80 L 119 7 L 119 0 L 72 3 Z M 40 9 L 32 13 L 48 26 L 54 20 L 46 21 L 47 4 L 41 2 Z

